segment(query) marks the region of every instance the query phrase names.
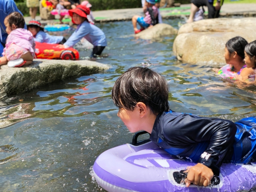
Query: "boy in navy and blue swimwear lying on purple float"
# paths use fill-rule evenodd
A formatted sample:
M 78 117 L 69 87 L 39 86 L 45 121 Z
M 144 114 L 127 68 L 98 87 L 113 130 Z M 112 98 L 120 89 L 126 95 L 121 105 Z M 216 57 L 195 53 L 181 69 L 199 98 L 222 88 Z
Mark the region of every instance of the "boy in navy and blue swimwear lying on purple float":
M 118 117 L 130 132 L 145 130 L 150 140 L 172 156 L 197 164 L 188 170 L 186 186 L 208 186 L 225 162 L 256 158 L 256 118 L 236 123 L 169 110 L 168 83 L 142 67 L 129 68 L 116 80 L 112 98 Z M 236 134 L 237 133 L 237 134 Z

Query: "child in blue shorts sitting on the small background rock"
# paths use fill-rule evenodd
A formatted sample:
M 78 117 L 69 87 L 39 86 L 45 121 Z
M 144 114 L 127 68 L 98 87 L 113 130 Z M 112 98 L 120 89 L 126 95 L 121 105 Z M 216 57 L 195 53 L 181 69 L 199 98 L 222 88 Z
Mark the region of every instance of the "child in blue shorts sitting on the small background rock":
M 155 0 L 146 0 L 145 6 L 147 11 L 145 17 L 134 15 L 132 17 L 132 25 L 134 33 L 137 34 L 146 28 L 151 28 L 155 24 L 158 24 L 158 8 L 154 6 L 156 4 Z M 140 25 L 140 29 L 137 28 L 137 23 Z

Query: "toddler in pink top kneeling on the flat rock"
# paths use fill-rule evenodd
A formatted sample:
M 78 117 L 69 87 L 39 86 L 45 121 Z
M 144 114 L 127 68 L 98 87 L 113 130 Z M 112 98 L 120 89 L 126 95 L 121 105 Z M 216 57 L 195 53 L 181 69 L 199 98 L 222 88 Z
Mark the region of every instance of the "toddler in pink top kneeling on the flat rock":
M 24 29 L 25 20 L 19 12 L 12 12 L 4 19 L 8 37 L 0 65 L 7 64 L 9 67 L 21 67 L 32 63 L 36 43 L 32 34 Z

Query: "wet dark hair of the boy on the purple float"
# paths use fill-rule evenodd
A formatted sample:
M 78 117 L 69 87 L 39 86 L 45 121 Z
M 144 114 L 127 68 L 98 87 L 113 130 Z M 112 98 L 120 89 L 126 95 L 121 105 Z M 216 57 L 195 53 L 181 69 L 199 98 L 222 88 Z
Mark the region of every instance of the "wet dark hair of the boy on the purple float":
M 115 82 L 112 90 L 114 104 L 134 110 L 143 102 L 155 115 L 169 111 L 167 80 L 157 72 L 143 67 L 132 67 Z

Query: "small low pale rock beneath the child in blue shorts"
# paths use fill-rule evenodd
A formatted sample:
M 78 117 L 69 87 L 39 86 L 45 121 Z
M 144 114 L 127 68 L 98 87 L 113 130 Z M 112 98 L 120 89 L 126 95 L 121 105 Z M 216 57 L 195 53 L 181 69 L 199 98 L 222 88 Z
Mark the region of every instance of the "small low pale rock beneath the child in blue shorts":
M 135 37 L 141 39 L 158 39 L 162 36 L 176 35 L 177 32 L 178 30 L 173 28 L 172 26 L 161 23 L 156 24 L 152 28 L 143 30 L 142 32 L 136 34 Z

